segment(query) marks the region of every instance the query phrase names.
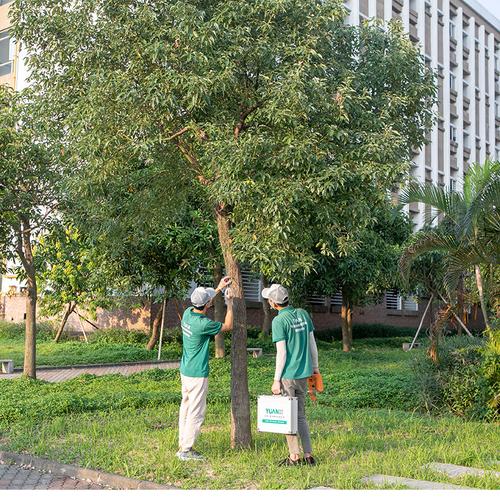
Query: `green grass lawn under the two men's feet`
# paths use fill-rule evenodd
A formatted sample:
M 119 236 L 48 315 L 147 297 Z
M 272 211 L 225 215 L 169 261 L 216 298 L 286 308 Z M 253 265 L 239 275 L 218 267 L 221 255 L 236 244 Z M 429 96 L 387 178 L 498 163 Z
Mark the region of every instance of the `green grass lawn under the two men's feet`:
M 178 462 L 177 370 L 130 377 L 82 376 L 59 384 L 0 380 L 0 448 L 98 468 L 180 488 L 366 488 L 367 474 L 390 474 L 496 489 L 500 481 L 448 479 L 425 471 L 428 462 L 491 468 L 500 459 L 493 423 L 418 411 L 412 359 L 402 339 L 366 339 L 342 353 L 340 343 L 319 342 L 325 393 L 308 402 L 315 469 L 282 469 L 283 436 L 256 432 L 256 398 L 270 393 L 272 355 L 249 359 L 254 443 L 229 447 L 229 362 L 211 360 L 207 417 L 197 448 L 206 463 Z M 108 346 L 111 349 L 110 346 Z

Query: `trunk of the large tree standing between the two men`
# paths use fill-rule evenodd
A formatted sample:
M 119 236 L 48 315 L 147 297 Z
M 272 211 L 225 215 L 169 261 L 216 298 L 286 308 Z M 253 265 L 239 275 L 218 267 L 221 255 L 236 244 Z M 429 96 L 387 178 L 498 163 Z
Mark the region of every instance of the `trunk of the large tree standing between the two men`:
M 252 444 L 247 370 L 247 324 L 243 281 L 239 263 L 233 255 L 230 221 L 223 209 L 217 210 L 219 241 L 226 272 L 232 279 L 233 331 L 231 335 L 231 448 Z

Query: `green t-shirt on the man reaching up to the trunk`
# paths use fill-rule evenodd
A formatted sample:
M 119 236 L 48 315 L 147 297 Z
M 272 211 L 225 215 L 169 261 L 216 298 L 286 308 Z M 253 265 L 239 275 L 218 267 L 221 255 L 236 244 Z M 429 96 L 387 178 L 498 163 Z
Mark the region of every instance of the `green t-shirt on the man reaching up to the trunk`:
M 187 377 L 208 377 L 208 344 L 217 335 L 222 323 L 212 321 L 189 307 L 181 321 L 182 359 L 181 373 Z

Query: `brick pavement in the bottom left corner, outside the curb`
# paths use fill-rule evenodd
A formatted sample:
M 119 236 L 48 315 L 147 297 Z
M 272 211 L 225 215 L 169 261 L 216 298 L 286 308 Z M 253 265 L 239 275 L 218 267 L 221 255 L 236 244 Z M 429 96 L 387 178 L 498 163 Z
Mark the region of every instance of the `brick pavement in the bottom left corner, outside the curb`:
M 109 486 L 0 461 L 0 490 L 110 490 Z M 1 495 L 0 495 L 1 496 Z

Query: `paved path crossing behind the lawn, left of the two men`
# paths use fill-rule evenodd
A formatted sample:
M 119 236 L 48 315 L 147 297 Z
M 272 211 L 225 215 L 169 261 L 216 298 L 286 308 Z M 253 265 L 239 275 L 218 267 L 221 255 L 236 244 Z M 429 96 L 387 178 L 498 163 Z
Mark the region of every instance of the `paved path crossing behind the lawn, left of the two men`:
M 110 375 L 113 373 L 120 373 L 121 375 L 132 375 L 133 373 L 142 372 L 144 370 L 151 370 L 153 368 L 160 368 L 161 370 L 169 370 L 178 368 L 178 361 L 160 361 L 158 362 L 141 362 L 141 363 L 123 363 L 114 365 L 88 365 L 77 367 L 56 368 L 47 367 L 39 368 L 36 371 L 36 376 L 40 380 L 47 382 L 62 382 L 69 380 L 79 375 L 89 373 L 91 375 Z M 0 374 L 0 380 L 17 378 L 22 375 L 22 372 L 16 371 L 10 374 Z

